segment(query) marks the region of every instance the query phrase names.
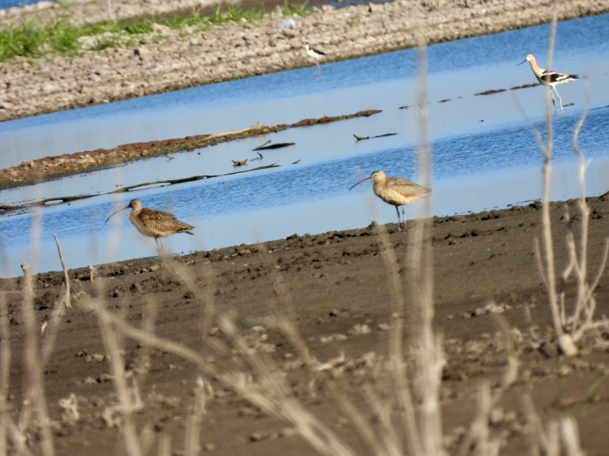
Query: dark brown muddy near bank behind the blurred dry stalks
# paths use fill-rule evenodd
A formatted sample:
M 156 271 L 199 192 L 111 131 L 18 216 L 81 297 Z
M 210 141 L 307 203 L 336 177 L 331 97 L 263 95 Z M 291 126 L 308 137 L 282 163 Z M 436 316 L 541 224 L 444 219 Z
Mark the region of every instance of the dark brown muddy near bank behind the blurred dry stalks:
M 607 237 L 609 199 L 590 198 L 588 204 L 588 266 L 595 275 Z M 552 204 L 551 212 L 560 271 L 567 264 L 564 207 Z M 569 201 L 566 207 L 579 235 L 576 202 Z M 544 423 L 565 414 L 574 416 L 585 453 L 606 453 L 600 430 L 609 424 L 605 412 L 609 384 L 603 381 L 609 375 L 609 354 L 606 347 L 592 345 L 589 339 L 580 342 L 575 358 L 560 356 L 556 350 L 547 292 L 535 257 L 540 219 L 538 203 L 434 218 L 435 328 L 443 336 L 446 356 L 438 399 L 448 454 L 459 454 L 476 415 L 481 388 L 489 385 L 491 393 L 500 391 L 510 356 L 518 359 L 517 375 L 493 407 L 489 423 L 490 435 L 501 442 L 500 454 L 529 452 L 529 437 L 538 432 L 522 405 L 529 394 Z M 397 230 L 395 224 L 387 225 L 387 230 L 387 235 L 379 235 L 373 227 L 294 235 L 264 244 L 197 252 L 167 265 L 158 258 L 128 260 L 99 266 L 93 277 L 86 268 L 72 270 L 72 308 L 59 314 L 52 309 L 64 293 L 63 274 L 35 275 L 31 308 L 37 334 L 48 323 L 38 336 L 41 347 L 47 347 L 54 316 L 59 316 L 58 337 L 42 375 L 56 454 L 122 454 L 113 356 L 122 356 L 128 385 L 137 385 L 133 391 L 139 402 L 133 419 L 149 454 L 156 454 L 167 439 L 172 454 L 185 454 L 186 435 L 192 429 L 197 444 L 209 454 L 314 454 L 294 426 L 264 412 L 220 381 L 220 373 L 237 371 L 250 388 L 258 389 L 258 377 L 247 364 L 247 350 L 271 359 L 273 373 L 286 379 L 294 400 L 353 447 L 355 454 L 372 454 L 359 440 L 353 416 L 337 406 L 332 388 L 353 399 L 358 413 L 378 432 L 382 433 L 383 426 L 365 400 L 367 389 L 373 389 L 386 401 L 388 413 L 397 416 L 387 371 L 389 334 L 396 317 L 390 305 L 395 283 L 381 236 L 397 255 L 397 283 L 406 297 L 407 340 L 416 333 L 410 297 L 418 285 L 408 278 L 409 230 Z M 192 275 L 190 284 L 176 272 L 178 266 Z M 575 284 L 572 277 L 565 281 L 568 309 L 572 309 Z M 24 279 L 0 280 L 0 289 L 7 303 L 9 331 L 2 341 L 10 342 L 12 353 L 7 406 L 17 418 L 27 407 Z M 600 318 L 609 312 L 606 271 L 594 298 Z M 219 374 L 209 375 L 169 350 L 128 337 L 124 343 L 119 341 L 121 354 L 110 355 L 100 320 L 88 306 L 91 299 L 99 300 L 130 326 L 153 328 L 158 336 L 203 353 L 209 368 Z M 206 311 L 210 302 L 219 312 L 213 319 Z M 319 363 L 316 365 L 326 365 L 322 370 L 325 381 L 320 381 L 319 371 L 316 374 L 307 367 L 292 340 L 273 324 L 276 313 L 295 323 Z M 499 330 L 498 315 L 507 321 L 509 336 Z M 234 320 L 247 350 L 231 345 L 219 329 L 219 316 Z M 598 335 L 609 337 L 603 328 Z M 408 375 L 414 376 L 414 356 L 408 350 L 404 356 Z M 414 384 L 419 381 L 415 376 L 411 379 Z M 71 395 L 78 416 L 73 408 L 60 405 Z M 205 411 L 196 415 L 199 421 L 192 421 L 197 404 Z M 29 447 L 36 451 L 40 433 L 27 436 Z M 12 449 L 10 445 L 9 452 Z

